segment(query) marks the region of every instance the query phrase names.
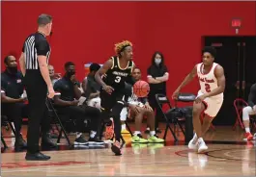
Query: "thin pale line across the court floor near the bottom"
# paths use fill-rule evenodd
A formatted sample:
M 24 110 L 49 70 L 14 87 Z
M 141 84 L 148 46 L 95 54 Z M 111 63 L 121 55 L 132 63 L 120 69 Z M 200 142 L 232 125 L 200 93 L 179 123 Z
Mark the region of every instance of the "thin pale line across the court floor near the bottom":
M 165 161 L 165 162 L 154 162 L 154 163 L 119 163 L 120 165 L 122 164 L 127 164 L 127 165 L 138 165 L 138 164 L 174 164 L 174 163 L 180 163 L 180 162 L 187 162 L 187 161 L 177 161 L 177 162 L 171 162 L 171 161 Z M 74 168 L 74 167 L 97 167 L 97 166 L 113 166 L 114 164 L 84 164 L 84 165 L 73 165 L 73 166 L 56 166 L 56 167 L 43 167 L 43 168 L 26 168 L 26 169 L 14 169 L 14 170 L 3 170 L 1 169 L 1 173 L 12 173 L 12 172 L 22 172 L 22 171 L 38 171 L 38 170 L 48 170 L 48 169 L 62 169 L 62 168 Z M 184 167 L 184 166 L 181 166 Z M 178 168 L 178 167 L 176 167 Z

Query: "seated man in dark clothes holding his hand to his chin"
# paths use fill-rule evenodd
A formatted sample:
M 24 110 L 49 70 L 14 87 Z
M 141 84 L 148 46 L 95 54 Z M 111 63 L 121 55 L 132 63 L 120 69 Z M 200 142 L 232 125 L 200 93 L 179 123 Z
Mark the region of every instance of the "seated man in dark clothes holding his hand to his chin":
M 54 103 L 59 114 L 68 114 L 71 119 L 76 120 L 76 125 L 84 125 L 84 121 L 91 119 L 91 132 L 89 142 L 84 139 L 81 133 L 76 134 L 74 140 L 75 145 L 86 145 L 90 142 L 101 144 L 103 143 L 97 138 L 97 133 L 100 128 L 100 110 L 89 107 L 85 104 L 78 106 L 78 99 L 81 97 L 80 84 L 75 78 L 74 63 L 65 63 L 65 76 L 58 80 L 54 85 L 54 90 L 61 93 L 60 96 L 54 97 Z M 65 119 L 63 119 L 65 121 Z M 85 128 L 85 127 L 84 127 Z M 76 132 L 81 132 L 76 127 Z

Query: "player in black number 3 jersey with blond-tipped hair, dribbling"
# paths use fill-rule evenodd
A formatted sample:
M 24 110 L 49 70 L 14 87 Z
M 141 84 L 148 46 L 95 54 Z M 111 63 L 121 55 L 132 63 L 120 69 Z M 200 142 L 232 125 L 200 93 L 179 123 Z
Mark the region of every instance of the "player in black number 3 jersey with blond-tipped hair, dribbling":
M 125 83 L 131 85 L 131 73 L 135 64 L 132 62 L 132 44 L 125 40 L 115 45 L 117 56 L 111 57 L 96 73 L 96 81 L 100 84 L 100 107 L 103 118 L 114 120 L 115 142 L 111 149 L 116 155 L 121 155 L 121 121 L 120 113 L 128 103 L 125 101 Z M 102 78 L 101 78 L 102 76 Z M 135 109 L 130 105 L 131 109 Z

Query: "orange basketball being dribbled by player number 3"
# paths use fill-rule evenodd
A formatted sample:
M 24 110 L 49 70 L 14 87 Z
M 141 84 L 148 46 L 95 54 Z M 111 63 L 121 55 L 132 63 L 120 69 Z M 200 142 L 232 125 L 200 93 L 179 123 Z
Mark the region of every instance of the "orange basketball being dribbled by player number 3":
M 133 92 L 138 97 L 146 97 L 150 92 L 150 85 L 146 81 L 137 81 L 133 85 Z

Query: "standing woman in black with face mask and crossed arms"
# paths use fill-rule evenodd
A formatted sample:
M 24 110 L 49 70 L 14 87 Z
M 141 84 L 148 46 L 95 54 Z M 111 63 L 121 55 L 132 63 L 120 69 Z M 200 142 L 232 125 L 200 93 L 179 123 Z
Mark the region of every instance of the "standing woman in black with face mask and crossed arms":
M 166 81 L 169 79 L 169 73 L 162 53 L 155 52 L 152 57 L 152 64 L 148 68 L 148 83 L 150 84 L 149 102 L 153 110 L 156 110 L 156 133 L 160 133 L 158 129 L 158 118 L 162 116 L 156 104 L 157 93 L 166 95 Z M 149 133 L 147 128 L 146 133 Z

